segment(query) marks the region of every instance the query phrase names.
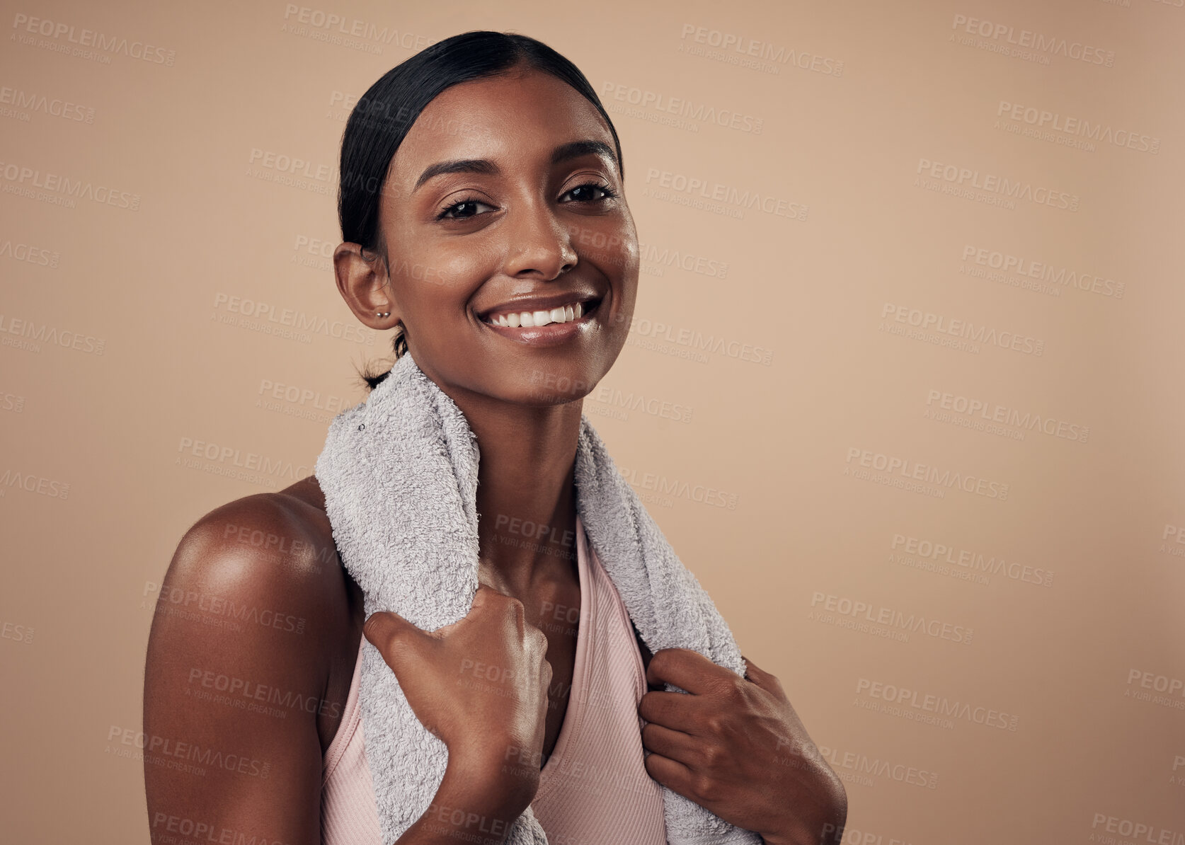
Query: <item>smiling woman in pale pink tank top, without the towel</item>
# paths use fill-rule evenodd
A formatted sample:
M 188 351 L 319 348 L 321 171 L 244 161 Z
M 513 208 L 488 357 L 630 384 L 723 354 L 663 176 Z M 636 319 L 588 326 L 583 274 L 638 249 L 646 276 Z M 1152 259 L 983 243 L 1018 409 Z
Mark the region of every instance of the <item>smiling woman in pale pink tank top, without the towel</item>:
M 481 587 L 433 634 L 365 620 L 314 478 L 200 519 L 148 645 L 153 840 L 378 843 L 365 635 L 449 751 L 403 845 L 501 841 L 529 804 L 552 843 L 664 843 L 659 785 L 767 843 L 839 841 L 844 788 L 779 680 L 652 655 L 577 520 L 582 399 L 624 345 L 639 271 L 621 146 L 584 76 L 519 34 L 440 41 L 359 101 L 340 177 L 338 289 L 363 324 L 395 329 L 396 354 L 478 437 Z M 475 664 L 511 680 L 457 685 Z M 512 743 L 530 764 L 504 764 Z M 608 758 L 636 773 L 629 789 L 572 775 Z

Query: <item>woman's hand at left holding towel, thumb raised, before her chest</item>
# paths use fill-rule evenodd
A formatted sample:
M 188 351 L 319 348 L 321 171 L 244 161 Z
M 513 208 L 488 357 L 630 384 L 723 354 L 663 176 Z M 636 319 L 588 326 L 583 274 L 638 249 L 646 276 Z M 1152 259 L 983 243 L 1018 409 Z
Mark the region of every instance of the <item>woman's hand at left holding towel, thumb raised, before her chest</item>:
M 469 613 L 435 632 L 379 612 L 363 633 L 448 747 L 449 768 L 481 773 L 485 788 L 525 808 L 539 785 L 551 664 L 523 602 L 479 584 Z

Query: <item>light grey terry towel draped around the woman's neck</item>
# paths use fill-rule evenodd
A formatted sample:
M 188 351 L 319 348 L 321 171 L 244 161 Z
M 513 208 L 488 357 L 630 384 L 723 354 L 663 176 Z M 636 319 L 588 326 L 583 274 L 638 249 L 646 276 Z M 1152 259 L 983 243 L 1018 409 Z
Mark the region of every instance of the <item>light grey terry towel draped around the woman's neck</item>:
M 478 590 L 479 457 L 465 415 L 410 353 L 364 403 L 329 424 L 316 479 L 341 559 L 366 595 L 367 616 L 395 610 L 436 630 L 469 612 Z M 587 416 L 575 482 L 589 543 L 651 652 L 691 648 L 743 676 L 728 625 L 617 472 Z M 383 841 L 393 843 L 431 805 L 448 749 L 416 718 L 378 649 L 365 639 L 363 648 L 366 758 Z M 672 845 L 760 845 L 756 833 L 671 789 L 662 793 Z M 530 807 L 506 841 L 546 845 Z

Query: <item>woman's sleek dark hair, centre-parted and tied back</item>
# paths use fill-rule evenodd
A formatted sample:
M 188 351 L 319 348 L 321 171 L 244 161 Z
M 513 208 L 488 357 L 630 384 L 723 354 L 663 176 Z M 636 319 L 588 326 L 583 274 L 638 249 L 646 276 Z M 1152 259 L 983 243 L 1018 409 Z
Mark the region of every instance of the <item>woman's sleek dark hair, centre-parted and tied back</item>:
M 396 65 L 364 94 L 341 135 L 338 219 L 341 239 L 360 244 L 387 261 L 386 244 L 378 225 L 379 198 L 387 169 L 411 124 L 437 94 L 470 79 L 501 76 L 512 69 L 539 70 L 566 82 L 604 117 L 613 134 L 617 168 L 624 177 L 621 141 L 600 97 L 584 75 L 543 41 L 513 32 L 473 30 L 446 38 Z M 408 340 L 397 329 L 393 341 L 398 359 L 408 351 Z M 386 372 L 361 372 L 371 390 Z

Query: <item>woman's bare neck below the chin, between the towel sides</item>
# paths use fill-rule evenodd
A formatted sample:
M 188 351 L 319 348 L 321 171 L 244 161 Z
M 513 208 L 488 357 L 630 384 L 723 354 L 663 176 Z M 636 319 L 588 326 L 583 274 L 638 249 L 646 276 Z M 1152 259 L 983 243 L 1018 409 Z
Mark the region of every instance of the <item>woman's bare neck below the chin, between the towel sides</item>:
M 510 595 L 576 565 L 576 443 L 583 401 L 454 397 L 478 437 L 479 558 Z

